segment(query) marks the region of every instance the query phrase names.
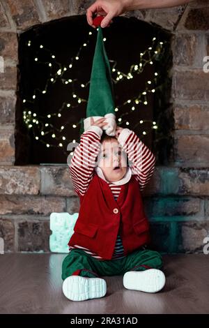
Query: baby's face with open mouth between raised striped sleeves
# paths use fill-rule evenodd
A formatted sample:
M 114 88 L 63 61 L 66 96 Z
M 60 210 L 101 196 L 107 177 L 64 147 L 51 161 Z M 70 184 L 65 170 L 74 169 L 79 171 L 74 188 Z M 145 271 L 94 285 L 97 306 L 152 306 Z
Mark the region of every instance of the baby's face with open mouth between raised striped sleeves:
M 126 156 L 116 139 L 104 140 L 98 154 L 98 166 L 109 182 L 121 180 L 126 172 Z

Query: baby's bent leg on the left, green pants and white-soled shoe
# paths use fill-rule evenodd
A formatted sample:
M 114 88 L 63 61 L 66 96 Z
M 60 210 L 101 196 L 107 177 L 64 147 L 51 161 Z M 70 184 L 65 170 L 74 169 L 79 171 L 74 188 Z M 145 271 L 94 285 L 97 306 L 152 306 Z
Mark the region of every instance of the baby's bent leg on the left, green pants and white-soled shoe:
M 95 272 L 95 261 L 84 251 L 72 249 L 62 264 L 63 294 L 72 301 L 103 297 L 107 292 L 104 279 Z

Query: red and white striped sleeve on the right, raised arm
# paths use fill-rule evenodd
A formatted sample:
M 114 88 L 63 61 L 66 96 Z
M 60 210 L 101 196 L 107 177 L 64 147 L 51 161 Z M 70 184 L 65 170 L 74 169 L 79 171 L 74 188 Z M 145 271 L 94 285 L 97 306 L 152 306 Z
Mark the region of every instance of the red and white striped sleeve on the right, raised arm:
M 118 142 L 127 154 L 128 160 L 132 162 L 130 163 L 132 174 L 139 182 L 140 190 L 143 191 L 153 175 L 156 162 L 155 155 L 146 147 L 144 142 L 139 140 L 134 131 L 128 128 L 123 128 L 118 136 Z

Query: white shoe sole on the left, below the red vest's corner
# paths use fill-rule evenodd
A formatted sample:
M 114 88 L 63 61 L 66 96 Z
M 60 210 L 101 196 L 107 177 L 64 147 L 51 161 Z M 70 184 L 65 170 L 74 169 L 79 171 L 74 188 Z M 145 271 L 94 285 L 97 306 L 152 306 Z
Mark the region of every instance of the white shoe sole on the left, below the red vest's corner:
M 72 301 L 98 299 L 107 292 L 106 281 L 102 278 L 69 276 L 63 281 L 63 294 Z

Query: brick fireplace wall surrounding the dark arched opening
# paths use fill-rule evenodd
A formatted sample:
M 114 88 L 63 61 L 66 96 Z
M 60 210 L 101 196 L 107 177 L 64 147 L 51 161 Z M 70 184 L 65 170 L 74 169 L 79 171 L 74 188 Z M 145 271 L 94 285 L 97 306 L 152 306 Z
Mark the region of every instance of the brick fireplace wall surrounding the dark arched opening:
M 49 215 L 73 214 L 79 199 L 66 165 L 15 165 L 17 36 L 71 15 L 85 15 L 91 1 L 0 0 L 0 237 L 5 251 L 49 252 Z M 157 166 L 144 193 L 153 245 L 167 253 L 202 253 L 209 235 L 209 4 L 136 10 L 125 17 L 172 34 L 173 161 Z

